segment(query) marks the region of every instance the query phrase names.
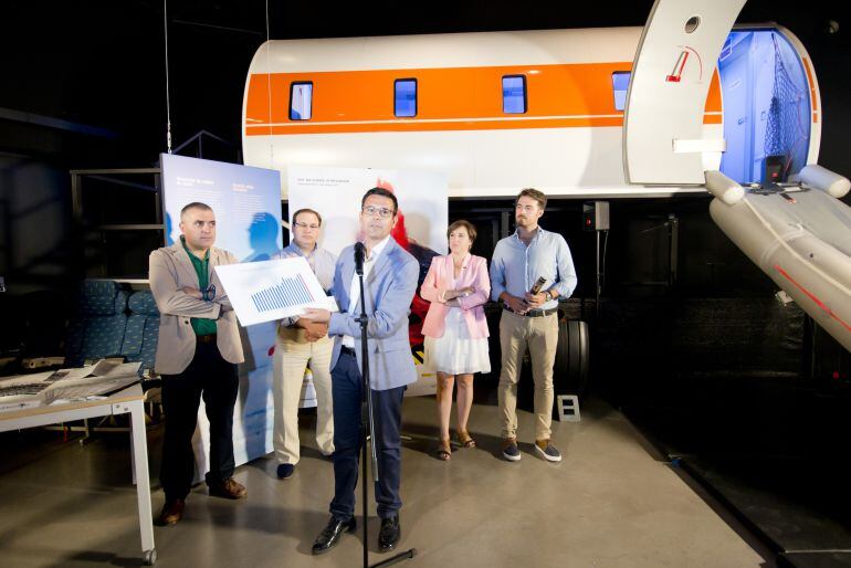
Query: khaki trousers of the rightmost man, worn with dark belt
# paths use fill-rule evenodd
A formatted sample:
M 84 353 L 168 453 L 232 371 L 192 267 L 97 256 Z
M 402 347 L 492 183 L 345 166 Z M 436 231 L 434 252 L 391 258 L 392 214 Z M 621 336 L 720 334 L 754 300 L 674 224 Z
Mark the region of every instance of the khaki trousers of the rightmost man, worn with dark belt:
M 503 439 L 517 436 L 517 382 L 526 348 L 532 358 L 535 381 L 535 440 L 549 440 L 553 425 L 553 365 L 558 347 L 558 314 L 543 317 L 518 316 L 503 311 L 500 319 L 502 371 L 500 413 Z

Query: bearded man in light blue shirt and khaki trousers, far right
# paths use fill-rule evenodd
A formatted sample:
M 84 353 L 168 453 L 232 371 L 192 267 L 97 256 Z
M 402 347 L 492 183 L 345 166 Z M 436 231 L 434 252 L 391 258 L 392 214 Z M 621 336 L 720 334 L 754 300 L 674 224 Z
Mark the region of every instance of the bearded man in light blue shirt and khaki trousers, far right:
M 521 459 L 517 449 L 517 381 L 526 347 L 535 380 L 535 450 L 547 461 L 561 454 L 550 442 L 553 422 L 553 365 L 558 346 L 558 298 L 576 288 L 576 271 L 564 236 L 538 225 L 547 197 L 536 189 L 517 196 L 517 230 L 496 243 L 491 261 L 491 296 L 504 307 L 500 320 L 502 371 L 500 411 L 503 456 Z M 538 278 L 543 284 L 536 285 Z M 536 290 L 537 288 L 537 290 Z

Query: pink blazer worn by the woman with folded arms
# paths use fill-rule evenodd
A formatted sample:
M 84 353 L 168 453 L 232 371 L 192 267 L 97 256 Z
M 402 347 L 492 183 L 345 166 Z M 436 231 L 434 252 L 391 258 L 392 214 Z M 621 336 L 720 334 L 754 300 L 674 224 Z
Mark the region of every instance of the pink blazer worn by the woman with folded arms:
M 463 267 L 455 285 L 452 285 L 453 267 L 452 254 L 434 256 L 429 266 L 429 273 L 420 287 L 420 295 L 431 302 L 426 322 L 422 324 L 422 335 L 428 337 L 443 337 L 449 306 L 441 302 L 443 293 L 448 290 L 473 286 L 475 292 L 467 297 L 459 297 L 458 302 L 464 311 L 464 319 L 470 330 L 470 337 L 481 339 L 487 337 L 487 322 L 484 317 L 482 305 L 491 296 L 491 278 L 487 276 L 487 261 L 481 256 L 467 254 L 464 257 Z

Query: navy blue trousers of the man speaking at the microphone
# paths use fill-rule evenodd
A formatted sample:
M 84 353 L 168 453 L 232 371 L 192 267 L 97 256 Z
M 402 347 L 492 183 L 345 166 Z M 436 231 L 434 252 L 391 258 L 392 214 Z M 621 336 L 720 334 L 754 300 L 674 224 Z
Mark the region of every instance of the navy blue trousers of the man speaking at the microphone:
M 355 514 L 355 486 L 360 455 L 360 397 L 363 379 L 355 356 L 342 353 L 332 370 L 334 399 L 334 499 L 330 513 L 340 520 Z M 405 387 L 372 391 L 372 416 L 377 444 L 378 482 L 375 486 L 378 516 L 392 517 L 402 506 L 399 495 L 401 481 L 401 441 Z

